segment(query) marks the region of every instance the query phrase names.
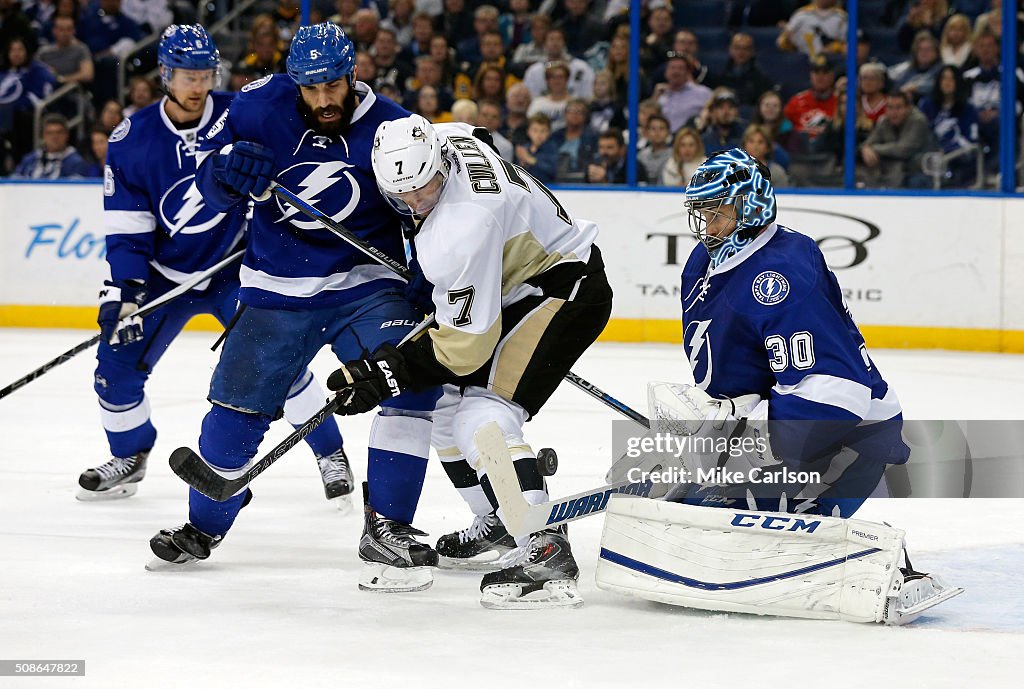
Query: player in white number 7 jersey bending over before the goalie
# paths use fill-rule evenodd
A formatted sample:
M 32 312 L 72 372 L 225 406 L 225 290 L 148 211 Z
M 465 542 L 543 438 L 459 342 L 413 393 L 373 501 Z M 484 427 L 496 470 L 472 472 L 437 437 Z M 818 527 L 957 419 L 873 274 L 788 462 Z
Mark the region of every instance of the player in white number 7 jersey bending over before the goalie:
M 525 499 L 547 501 L 522 427 L 610 314 L 597 226 L 573 220 L 551 191 L 466 125 L 435 128 L 418 115 L 386 122 L 377 129 L 372 161 L 385 198 L 418 220 L 413 254 L 432 285 L 436 328 L 400 350 L 382 347 L 370 359 L 347 362 L 328 387 L 339 390 L 342 414 L 369 411 L 407 389 L 445 383 L 461 391 L 438 405 L 432 442 L 450 476 L 462 479 L 455 482 L 476 514 L 463 537 L 441 539 L 438 553 L 465 557 L 449 547 L 499 528 L 501 516 L 486 476 L 476 474 L 474 435 L 482 426 L 501 427 Z M 564 531 L 509 545 L 492 563 L 504 568 L 480 584 L 484 606 L 583 602 Z

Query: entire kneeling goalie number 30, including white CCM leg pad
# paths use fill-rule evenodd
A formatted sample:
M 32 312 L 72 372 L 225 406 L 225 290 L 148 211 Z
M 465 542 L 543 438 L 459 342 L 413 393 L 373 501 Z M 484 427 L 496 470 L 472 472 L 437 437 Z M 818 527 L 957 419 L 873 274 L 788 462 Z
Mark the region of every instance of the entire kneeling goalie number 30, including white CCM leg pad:
M 771 173 L 720 153 L 685 203 L 699 240 L 681 293 L 696 385 L 651 383 L 648 396 L 652 429 L 692 451 L 668 503 L 609 500 L 598 587 L 886 625 L 963 593 L 911 566 L 901 529 L 850 518 L 908 458 L 902 412 L 814 241 L 775 222 Z

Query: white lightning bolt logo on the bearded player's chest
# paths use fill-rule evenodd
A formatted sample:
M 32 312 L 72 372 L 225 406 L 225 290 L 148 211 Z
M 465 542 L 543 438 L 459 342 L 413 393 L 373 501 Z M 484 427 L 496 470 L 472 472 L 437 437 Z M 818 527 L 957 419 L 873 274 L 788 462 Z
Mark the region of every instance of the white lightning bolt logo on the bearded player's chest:
M 359 205 L 359 183 L 348 171 L 352 167 L 341 161 L 299 163 L 282 172 L 278 178 L 299 199 L 341 222 Z M 288 220 L 300 229 L 324 228 L 321 223 L 298 215 L 297 208 L 283 204 L 281 199 L 276 199 L 276 203 L 281 211 L 276 222 Z

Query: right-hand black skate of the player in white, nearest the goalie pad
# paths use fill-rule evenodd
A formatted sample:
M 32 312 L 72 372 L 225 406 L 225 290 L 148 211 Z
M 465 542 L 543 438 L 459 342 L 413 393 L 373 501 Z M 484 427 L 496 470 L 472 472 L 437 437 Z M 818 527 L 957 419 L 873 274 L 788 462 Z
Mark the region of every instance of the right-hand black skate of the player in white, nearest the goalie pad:
M 540 531 L 524 547 L 526 559 L 513 567 L 484 574 L 480 605 L 497 610 L 578 607 L 580 568 L 568 539 L 560 531 Z

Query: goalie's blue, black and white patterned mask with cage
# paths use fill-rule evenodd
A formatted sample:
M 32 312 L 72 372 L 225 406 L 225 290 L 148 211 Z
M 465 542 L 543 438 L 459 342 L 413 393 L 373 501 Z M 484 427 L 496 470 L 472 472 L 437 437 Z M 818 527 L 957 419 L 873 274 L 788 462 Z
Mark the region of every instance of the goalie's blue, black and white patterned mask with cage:
M 735 227 L 708 233 L 724 206 L 733 206 Z M 686 210 L 690 231 L 709 251 L 720 247 L 735 233 L 736 241 L 753 239 L 775 220 L 775 190 L 771 172 L 742 148 L 716 154 L 700 164 L 686 187 Z

